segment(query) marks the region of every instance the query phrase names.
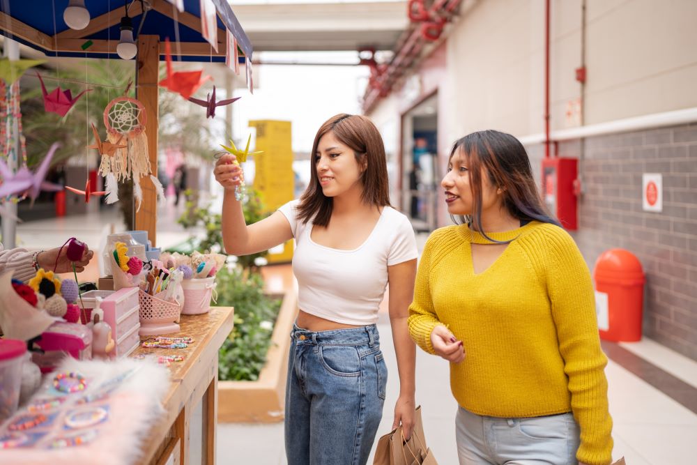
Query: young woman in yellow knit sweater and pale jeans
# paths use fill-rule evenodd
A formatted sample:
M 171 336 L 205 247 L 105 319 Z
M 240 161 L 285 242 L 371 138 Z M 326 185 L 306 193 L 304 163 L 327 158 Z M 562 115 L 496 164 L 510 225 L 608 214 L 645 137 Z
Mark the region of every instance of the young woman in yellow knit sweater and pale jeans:
M 474 132 L 441 183 L 409 330 L 450 362 L 461 465 L 607 465 L 612 420 L 588 266 L 545 212 L 521 143 Z

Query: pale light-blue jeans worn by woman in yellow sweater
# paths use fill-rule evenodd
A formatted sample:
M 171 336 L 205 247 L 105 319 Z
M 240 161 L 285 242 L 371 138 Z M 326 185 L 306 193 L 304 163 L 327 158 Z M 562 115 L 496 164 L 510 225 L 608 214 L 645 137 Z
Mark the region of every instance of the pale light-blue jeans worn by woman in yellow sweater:
M 455 419 L 460 465 L 576 465 L 579 426 L 572 413 L 534 418 L 479 416 L 462 407 Z

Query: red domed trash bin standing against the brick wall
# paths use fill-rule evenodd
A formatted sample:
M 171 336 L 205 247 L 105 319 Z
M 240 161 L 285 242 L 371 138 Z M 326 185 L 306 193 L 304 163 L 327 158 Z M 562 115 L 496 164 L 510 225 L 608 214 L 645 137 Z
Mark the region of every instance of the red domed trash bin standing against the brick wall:
M 614 342 L 641 340 L 646 281 L 641 262 L 628 250 L 606 250 L 595 262 L 593 280 L 600 337 Z

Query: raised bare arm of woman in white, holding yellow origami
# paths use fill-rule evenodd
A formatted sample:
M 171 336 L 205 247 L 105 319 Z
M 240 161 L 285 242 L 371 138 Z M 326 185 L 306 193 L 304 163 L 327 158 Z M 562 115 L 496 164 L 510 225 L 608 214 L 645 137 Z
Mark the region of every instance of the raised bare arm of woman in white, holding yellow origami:
M 286 217 L 275 212 L 268 218 L 247 225 L 242 204 L 235 198 L 235 186 L 242 181 L 242 169 L 233 163 L 235 155 L 226 154 L 215 163 L 215 180 L 225 189 L 222 202 L 222 240 L 225 251 L 249 255 L 268 250 L 293 238 Z

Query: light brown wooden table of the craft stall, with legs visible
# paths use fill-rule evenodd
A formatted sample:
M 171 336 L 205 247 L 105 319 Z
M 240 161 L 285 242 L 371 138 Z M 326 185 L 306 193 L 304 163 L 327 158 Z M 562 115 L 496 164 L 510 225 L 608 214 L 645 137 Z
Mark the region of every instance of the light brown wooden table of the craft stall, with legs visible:
M 194 344 L 186 349 L 145 349 L 131 356 L 154 353 L 181 355 L 182 362 L 170 365 L 171 385 L 162 401 L 165 413 L 143 443 L 141 464 L 194 465 L 189 462 L 192 416 L 201 403 L 201 464 L 215 464 L 217 419 L 218 350 L 233 326 L 232 307 L 211 307 L 201 315 L 182 315 L 181 331 L 170 337 L 190 336 Z M 153 336 L 141 336 L 141 341 Z M 198 464 L 195 464 L 198 465 Z

